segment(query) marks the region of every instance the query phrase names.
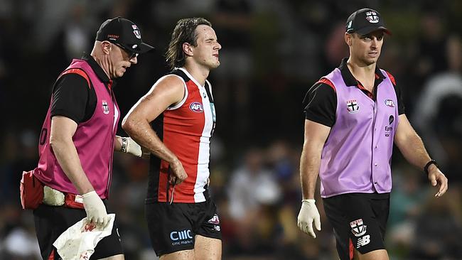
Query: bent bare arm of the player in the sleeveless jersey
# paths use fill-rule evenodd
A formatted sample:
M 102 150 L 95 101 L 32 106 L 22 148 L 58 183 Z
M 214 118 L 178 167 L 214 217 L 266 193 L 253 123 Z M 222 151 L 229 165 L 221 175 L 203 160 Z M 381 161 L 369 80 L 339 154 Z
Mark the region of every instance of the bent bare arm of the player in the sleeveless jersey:
M 140 146 L 144 146 L 155 156 L 170 163 L 176 177 L 186 179 L 186 173 L 176 155 L 165 146 L 149 124 L 169 106 L 181 102 L 185 93 L 183 85 L 183 81 L 173 75 L 156 82 L 154 87 L 130 109 L 122 121 L 122 129 Z

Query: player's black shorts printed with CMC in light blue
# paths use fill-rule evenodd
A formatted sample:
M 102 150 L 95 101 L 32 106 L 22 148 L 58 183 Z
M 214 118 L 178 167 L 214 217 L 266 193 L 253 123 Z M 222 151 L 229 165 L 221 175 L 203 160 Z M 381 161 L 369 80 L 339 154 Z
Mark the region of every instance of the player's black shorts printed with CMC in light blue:
M 146 203 L 146 220 L 157 256 L 194 249 L 195 235 L 221 240 L 212 200 L 199 203 Z

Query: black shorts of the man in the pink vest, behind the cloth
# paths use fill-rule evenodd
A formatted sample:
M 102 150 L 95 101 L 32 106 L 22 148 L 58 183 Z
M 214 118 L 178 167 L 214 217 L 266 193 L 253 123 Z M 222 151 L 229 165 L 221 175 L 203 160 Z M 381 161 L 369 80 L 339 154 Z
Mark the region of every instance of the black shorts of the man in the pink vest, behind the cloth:
M 53 243 L 66 229 L 82 220 L 82 218 L 87 217 L 87 213 L 85 210 L 41 204 L 36 210 L 33 210 L 33 217 L 36 223 L 38 245 L 43 259 L 48 259 L 53 250 L 54 259 L 61 259 L 55 247 L 53 247 Z M 90 260 L 124 254 L 116 222 L 117 218 L 114 220 L 112 234 L 98 242 L 95 253 L 92 254 Z

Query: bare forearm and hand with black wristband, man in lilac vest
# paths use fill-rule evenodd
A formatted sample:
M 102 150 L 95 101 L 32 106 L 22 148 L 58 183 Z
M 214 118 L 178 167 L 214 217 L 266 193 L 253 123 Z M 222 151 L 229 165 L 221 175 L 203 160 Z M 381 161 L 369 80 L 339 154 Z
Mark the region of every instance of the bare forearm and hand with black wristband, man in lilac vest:
M 401 151 L 409 163 L 421 170 L 431 160 L 429 153 L 426 152 L 424 143 L 414 128 L 412 128 L 405 114 L 399 116 L 398 128 L 394 134 L 394 144 L 396 144 L 399 151 Z M 439 190 L 436 196 L 441 197 L 448 189 L 448 179 L 435 165 L 429 166 L 428 170 L 431 185 L 435 186 L 439 183 Z

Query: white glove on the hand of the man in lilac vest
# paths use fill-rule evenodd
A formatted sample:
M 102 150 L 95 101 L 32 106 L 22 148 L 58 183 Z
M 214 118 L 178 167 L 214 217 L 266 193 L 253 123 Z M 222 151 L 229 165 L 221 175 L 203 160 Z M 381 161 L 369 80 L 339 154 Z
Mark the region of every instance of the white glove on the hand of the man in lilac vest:
M 301 231 L 309 234 L 313 238 L 316 238 L 316 234 L 314 234 L 313 231 L 313 220 L 316 229 L 321 231 L 321 220 L 318 208 L 316 204 L 314 204 L 315 201 L 316 200 L 301 200 L 301 209 L 299 217 L 297 218 L 297 224 Z

